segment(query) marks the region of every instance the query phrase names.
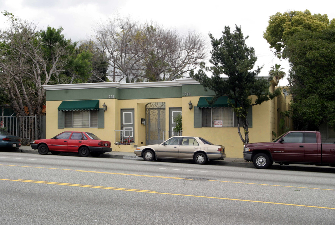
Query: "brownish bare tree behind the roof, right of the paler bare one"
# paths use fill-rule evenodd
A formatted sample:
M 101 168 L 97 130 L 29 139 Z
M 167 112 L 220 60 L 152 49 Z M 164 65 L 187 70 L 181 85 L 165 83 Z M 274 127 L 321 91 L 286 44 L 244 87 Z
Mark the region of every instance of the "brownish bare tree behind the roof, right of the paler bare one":
M 189 32 L 181 36 L 175 29 L 151 24 L 143 28 L 142 63 L 149 81 L 171 81 L 187 77 L 206 57 L 202 35 Z

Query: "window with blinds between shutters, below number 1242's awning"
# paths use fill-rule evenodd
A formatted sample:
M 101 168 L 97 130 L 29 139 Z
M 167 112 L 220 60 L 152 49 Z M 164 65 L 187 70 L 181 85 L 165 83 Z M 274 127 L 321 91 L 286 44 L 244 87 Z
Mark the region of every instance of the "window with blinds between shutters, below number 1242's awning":
M 64 111 L 64 128 L 98 127 L 97 110 Z

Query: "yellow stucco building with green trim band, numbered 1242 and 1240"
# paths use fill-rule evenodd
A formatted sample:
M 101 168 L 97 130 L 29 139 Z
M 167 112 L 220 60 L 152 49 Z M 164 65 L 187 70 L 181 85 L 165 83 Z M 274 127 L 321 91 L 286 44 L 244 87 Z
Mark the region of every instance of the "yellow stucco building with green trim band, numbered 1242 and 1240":
M 270 81 L 270 90 L 277 82 Z M 46 85 L 46 138 L 63 131 L 86 131 L 112 142 L 113 151 L 132 152 L 171 137 L 173 118 L 182 115 L 185 136 L 199 136 L 225 146 L 227 157 L 242 158 L 243 143 L 236 117 L 225 96 L 214 95 L 192 79 L 147 83 Z M 192 103 L 192 109 L 189 109 Z M 104 110 L 105 106 L 105 110 Z M 106 110 L 107 109 L 107 110 Z M 272 141 L 280 132 L 281 111 L 289 109 L 284 95 L 250 108 L 250 142 Z M 290 126 L 288 121 L 285 126 Z M 242 129 L 243 131 L 243 129 Z

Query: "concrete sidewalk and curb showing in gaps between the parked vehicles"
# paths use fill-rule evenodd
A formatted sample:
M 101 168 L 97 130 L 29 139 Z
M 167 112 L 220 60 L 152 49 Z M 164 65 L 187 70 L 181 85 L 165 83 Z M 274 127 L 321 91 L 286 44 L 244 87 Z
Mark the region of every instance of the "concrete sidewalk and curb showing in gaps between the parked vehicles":
M 17 152 L 27 152 L 27 153 L 36 153 L 38 154 L 36 149 L 32 149 L 30 146 L 21 146 L 16 150 Z M 134 152 L 116 152 L 112 151 L 109 152 L 108 154 L 104 154 L 106 157 L 110 158 L 120 158 L 120 159 L 142 159 L 142 157 L 138 157 L 137 155 L 134 154 Z M 246 162 L 243 158 L 224 158 L 224 161 L 226 162 L 245 162 L 245 163 L 250 163 Z

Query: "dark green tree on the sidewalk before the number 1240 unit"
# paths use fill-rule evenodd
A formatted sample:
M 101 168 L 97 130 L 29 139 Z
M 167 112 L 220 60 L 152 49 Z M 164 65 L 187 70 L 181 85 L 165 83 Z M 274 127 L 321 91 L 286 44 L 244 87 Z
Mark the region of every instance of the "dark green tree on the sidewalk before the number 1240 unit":
M 228 96 L 230 106 L 238 119 L 239 136 L 244 144 L 248 144 L 249 107 L 274 98 L 280 91 L 270 93 L 270 81 L 257 77 L 261 68 L 253 70 L 257 57 L 254 48 L 246 45 L 248 36 L 244 38 L 241 27 L 236 26 L 236 30 L 230 32 L 229 26 L 225 26 L 221 38 L 215 39 L 211 33 L 209 37 L 213 47 L 210 60 L 213 66 L 202 65 L 202 69 L 197 73 L 191 72 L 191 77 L 199 81 L 205 90 L 215 92 L 215 97 L 209 103 L 213 103 L 222 95 Z M 210 71 L 211 77 L 208 77 L 205 71 Z M 222 75 L 227 75 L 228 78 L 222 78 Z M 252 101 L 251 95 L 256 96 L 255 101 Z M 241 134 L 240 124 L 243 126 L 244 136 Z

